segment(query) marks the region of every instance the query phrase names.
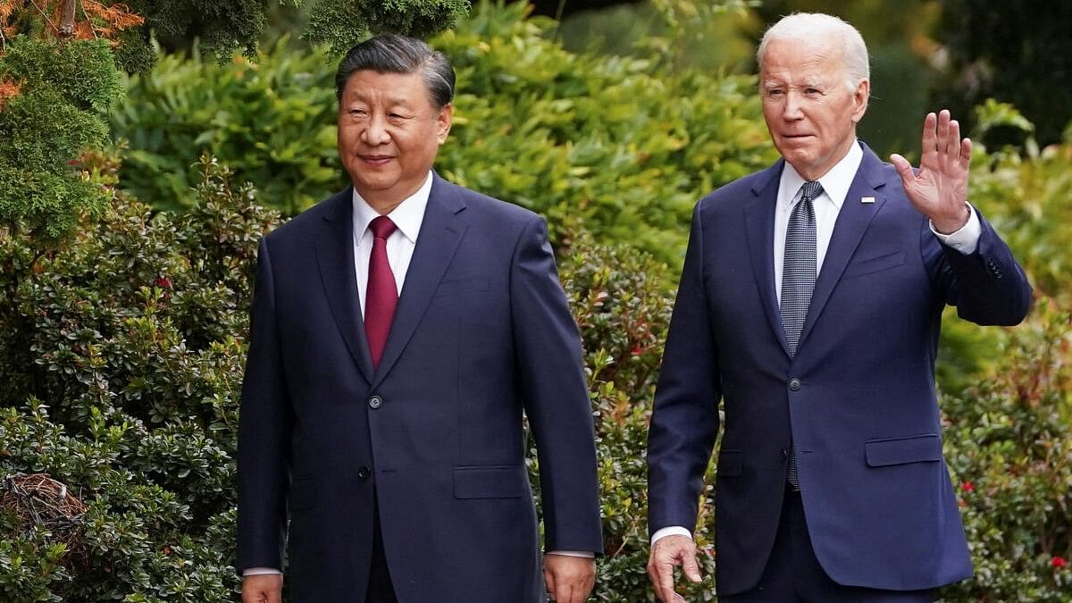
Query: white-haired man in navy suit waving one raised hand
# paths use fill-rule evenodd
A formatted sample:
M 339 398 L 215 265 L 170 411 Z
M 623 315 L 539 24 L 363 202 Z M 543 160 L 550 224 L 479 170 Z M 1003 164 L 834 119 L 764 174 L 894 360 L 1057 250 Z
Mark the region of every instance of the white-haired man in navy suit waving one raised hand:
M 1031 289 L 967 203 L 971 143 L 948 112 L 918 172 L 855 137 L 867 49 L 828 15 L 757 53 L 783 159 L 696 207 L 649 442 L 649 573 L 699 582 L 691 531 L 725 403 L 719 602 L 909 603 L 971 575 L 942 458 L 934 367 L 947 304 L 1013 325 Z

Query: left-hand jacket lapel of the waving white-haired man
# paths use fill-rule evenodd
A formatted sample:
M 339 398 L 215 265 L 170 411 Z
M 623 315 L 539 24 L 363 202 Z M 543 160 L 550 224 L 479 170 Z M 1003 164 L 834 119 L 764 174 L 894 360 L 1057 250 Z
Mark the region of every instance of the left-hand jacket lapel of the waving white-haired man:
M 751 271 L 759 289 L 759 297 L 766 313 L 766 322 L 781 348 L 789 353 L 786 334 L 781 328 L 778 296 L 774 289 L 774 210 L 778 202 L 778 178 L 784 160 L 769 167 L 757 179 L 751 192 L 755 195 L 745 207 L 745 231 Z

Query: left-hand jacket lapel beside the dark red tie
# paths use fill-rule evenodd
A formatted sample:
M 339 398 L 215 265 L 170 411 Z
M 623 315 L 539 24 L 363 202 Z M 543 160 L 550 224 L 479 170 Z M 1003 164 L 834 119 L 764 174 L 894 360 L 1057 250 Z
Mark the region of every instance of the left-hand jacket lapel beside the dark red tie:
M 354 363 L 372 381 L 372 358 L 364 338 L 361 303 L 357 294 L 357 275 L 354 271 L 354 205 L 353 191 L 346 188 L 325 203 L 324 236 L 316 238 L 316 260 L 321 280 L 327 292 L 328 304 L 334 315 L 346 349 Z

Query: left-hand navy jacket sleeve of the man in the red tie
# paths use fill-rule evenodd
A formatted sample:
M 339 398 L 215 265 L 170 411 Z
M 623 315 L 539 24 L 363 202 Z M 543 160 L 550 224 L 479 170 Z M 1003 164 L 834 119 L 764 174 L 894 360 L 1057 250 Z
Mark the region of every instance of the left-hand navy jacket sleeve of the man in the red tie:
M 262 239 L 238 427 L 239 573 L 256 567 L 283 568 L 291 425 L 272 266 L 267 239 Z

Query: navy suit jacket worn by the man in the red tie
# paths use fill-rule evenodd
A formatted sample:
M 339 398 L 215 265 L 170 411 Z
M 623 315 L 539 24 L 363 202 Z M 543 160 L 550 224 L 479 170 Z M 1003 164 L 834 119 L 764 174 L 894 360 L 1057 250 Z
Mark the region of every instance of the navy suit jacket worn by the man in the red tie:
M 401 603 L 545 601 L 548 550 L 601 550 L 580 338 L 544 220 L 434 176 L 381 365 L 352 190 L 264 238 L 239 430 L 238 569 L 292 600 L 362 600 L 374 497 Z M 288 525 L 289 519 L 289 525 Z

